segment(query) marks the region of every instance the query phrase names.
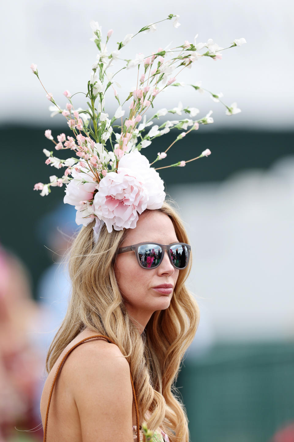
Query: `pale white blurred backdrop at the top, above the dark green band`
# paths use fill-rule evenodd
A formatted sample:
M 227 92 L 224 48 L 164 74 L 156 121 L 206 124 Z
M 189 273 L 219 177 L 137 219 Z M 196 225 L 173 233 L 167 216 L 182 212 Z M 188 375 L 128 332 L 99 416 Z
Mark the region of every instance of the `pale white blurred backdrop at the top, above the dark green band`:
M 67 102 L 62 95 L 65 89 L 71 94 L 86 91 L 97 55 L 96 45 L 89 41 L 90 20 L 102 25 L 104 37 L 109 29 L 114 30 L 108 44 L 108 51 L 112 51 L 127 33 L 135 34 L 144 25 L 164 19 L 170 13 L 180 15 L 178 29 L 171 21 L 159 23 L 156 32 L 137 35 L 123 48 L 122 55 L 134 58 L 136 53 L 143 52 L 147 56 L 170 42 L 173 46 L 185 40 L 194 42 L 195 34 L 197 42 L 212 38 L 224 48 L 231 46 L 235 38 L 243 37 L 247 43 L 223 50 L 223 60 L 203 57 L 178 77 L 185 83 L 202 81 L 202 87 L 213 93 L 223 92 L 223 101 L 227 105 L 237 102 L 242 113 L 227 117 L 221 103 L 213 102 L 208 93 L 201 95 L 188 87 L 172 88 L 173 95 L 171 88 L 167 88 L 156 99 L 158 109 L 175 107 L 181 100 L 184 105 L 198 107 L 199 116 L 213 110 L 216 128 L 246 125 L 272 130 L 292 124 L 294 6 L 287 0 L 5 2 L 0 30 L 1 123 L 48 124 L 49 102 L 30 70 L 31 63 L 37 64 L 42 83 L 61 107 Z M 135 77 L 136 68 L 118 74 L 121 96 L 135 86 Z M 111 91 L 109 95 L 113 95 Z M 75 107 L 86 106 L 84 97 L 75 95 Z M 112 96 L 107 103 L 106 112 L 112 113 L 117 102 Z M 54 122 L 63 124 L 63 117 L 58 115 Z

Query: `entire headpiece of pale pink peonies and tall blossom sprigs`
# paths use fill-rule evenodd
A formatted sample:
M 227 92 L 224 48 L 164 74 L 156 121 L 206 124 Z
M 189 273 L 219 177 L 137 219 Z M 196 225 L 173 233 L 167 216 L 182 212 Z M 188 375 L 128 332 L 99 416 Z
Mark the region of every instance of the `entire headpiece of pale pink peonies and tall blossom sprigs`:
M 175 28 L 180 26 L 179 15 L 168 15 L 166 20 L 173 19 Z M 164 20 L 161 20 L 164 21 Z M 148 33 L 156 30 L 157 23 L 151 23 L 142 27 L 140 32 Z M 67 119 L 69 128 L 73 131 L 73 136 L 65 136 L 64 133 L 57 135 L 56 142 L 51 134 L 51 130 L 45 130 L 45 137 L 55 144 L 56 150 L 70 149 L 75 152 L 74 157 L 67 160 L 60 160 L 53 156 L 53 151 L 43 149 L 47 156 L 46 164 L 50 164 L 57 169 L 66 168 L 62 178 L 56 175 L 50 176 L 50 183 L 37 183 L 34 190 L 41 190 L 41 196 L 51 192 L 50 187 L 62 187 L 66 185 L 65 203 L 75 206 L 76 223 L 78 225 L 88 225 L 93 218 L 96 223 L 93 227 L 95 240 L 99 235 L 101 226 L 106 224 L 108 232 L 122 230 L 123 228 L 134 229 L 138 221 L 138 213 L 145 209 L 158 209 L 162 206 L 165 198 L 164 182 L 156 170 L 185 166 L 190 161 L 197 160 L 203 156 L 210 155 L 210 150 L 206 149 L 201 155 L 190 160 L 180 160 L 175 164 L 161 168 L 153 168 L 152 164 L 167 156 L 167 151 L 175 142 L 181 140 L 192 130 L 198 130 L 199 124 L 213 123 L 210 116 L 212 110 L 205 117 L 194 119 L 200 112 L 194 107 L 183 107 L 179 103 L 173 109 L 160 109 L 147 120 L 146 111 L 151 106 L 156 96 L 166 88 L 184 86 L 177 82 L 177 76 L 185 69 L 190 69 L 195 61 L 201 57 L 209 57 L 213 61 L 221 60 L 221 50 L 208 39 L 207 43 L 194 43 L 185 41 L 182 45 L 172 49 L 167 46 L 165 49 L 159 48 L 156 52 L 145 57 L 142 53 L 136 54 L 133 60 L 123 60 L 120 58 L 121 51 L 134 37 L 127 34 L 123 41 L 118 43 L 118 47 L 108 53 L 106 45 L 112 36 L 112 29 L 108 31 L 106 42 L 102 42 L 101 27 L 93 20 L 90 22 L 93 30 L 93 37 L 99 53 L 97 60 L 92 65 L 90 80 L 87 85 L 86 98 L 87 109 L 74 109 L 72 102 L 73 95 L 69 91 L 64 91 L 69 103 L 65 109 L 61 109 L 53 99 L 52 94 L 46 91 L 37 71 L 37 65 L 32 64 L 30 68 L 37 76 L 46 91 L 46 97 L 52 102 L 49 107 L 51 116 L 62 114 Z M 246 43 L 245 38 L 235 39 L 230 48 L 241 46 Z M 205 52 L 199 51 L 205 49 Z M 227 48 L 225 48 L 227 49 Z M 117 72 L 109 72 L 108 69 L 115 62 L 124 61 L 126 65 Z M 136 67 L 137 85 L 130 91 L 128 97 L 122 102 L 115 87 L 120 88 L 119 83 L 114 80 L 116 74 L 122 69 Z M 194 90 L 204 93 L 206 89 L 201 87 L 201 82 L 188 85 Z M 113 91 L 119 107 L 110 118 L 105 112 L 105 99 L 110 91 Z M 207 90 L 206 90 L 207 91 Z M 237 103 L 227 106 L 220 98 L 222 92 L 214 94 L 208 91 L 215 102 L 220 102 L 226 107 L 226 114 L 233 115 L 241 112 L 237 108 Z M 123 119 L 125 110 L 123 105 L 130 100 L 129 114 Z M 186 117 L 182 113 L 187 114 Z M 166 121 L 161 126 L 153 124 L 153 119 L 166 115 L 167 113 L 182 116 L 182 119 Z M 114 125 L 119 120 L 120 125 Z M 147 158 L 141 154 L 141 149 L 148 147 L 154 138 L 168 133 L 171 128 L 182 130 L 175 141 L 164 152 L 158 152 L 153 163 L 149 164 Z M 189 128 L 189 129 L 188 129 Z

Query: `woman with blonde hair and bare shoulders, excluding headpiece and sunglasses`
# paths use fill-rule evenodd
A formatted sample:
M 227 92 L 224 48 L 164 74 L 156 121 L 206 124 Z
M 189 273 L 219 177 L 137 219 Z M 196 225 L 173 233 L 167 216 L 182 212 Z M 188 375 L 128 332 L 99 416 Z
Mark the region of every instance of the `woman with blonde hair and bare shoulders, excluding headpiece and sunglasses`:
M 146 270 L 136 253 L 127 251 L 141 242 L 168 244 L 159 265 Z M 96 244 L 93 223 L 79 232 L 69 259 L 71 300 L 46 361 L 43 427 L 50 387 L 67 351 L 93 335 L 114 343 L 89 339 L 68 355 L 52 392 L 48 442 L 138 440 L 130 375 L 140 425 L 145 421 L 156 431 L 156 441 L 189 441 L 186 411 L 173 384 L 194 339 L 199 310 L 184 285 L 191 260 L 176 269 L 168 255 L 173 243 L 188 244 L 188 238 L 166 202 L 145 210 L 134 229 L 109 233 L 104 225 Z

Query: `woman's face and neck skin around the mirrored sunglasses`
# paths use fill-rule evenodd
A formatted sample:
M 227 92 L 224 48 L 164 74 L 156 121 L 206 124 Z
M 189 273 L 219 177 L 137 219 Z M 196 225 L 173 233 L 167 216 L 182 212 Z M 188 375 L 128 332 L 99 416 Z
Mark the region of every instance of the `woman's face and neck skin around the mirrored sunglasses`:
M 129 229 L 120 247 L 140 242 L 172 244 L 178 241 L 171 219 L 165 213 L 150 210 L 139 215 L 135 229 Z M 178 275 L 179 270 L 172 266 L 167 251 L 160 265 L 150 270 L 140 267 L 134 251 L 118 255 L 115 277 L 119 290 L 130 316 L 141 324 L 142 330 L 153 312 L 170 305 Z M 159 286 L 166 284 L 170 290 L 160 290 Z

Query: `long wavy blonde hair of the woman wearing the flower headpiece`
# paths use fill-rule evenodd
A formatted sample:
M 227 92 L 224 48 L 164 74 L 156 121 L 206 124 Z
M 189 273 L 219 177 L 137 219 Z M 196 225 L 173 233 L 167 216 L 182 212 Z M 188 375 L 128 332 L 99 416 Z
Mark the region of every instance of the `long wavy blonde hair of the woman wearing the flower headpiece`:
M 157 211 L 170 217 L 178 240 L 189 244 L 175 209 L 164 202 Z M 128 229 L 123 229 L 108 233 L 104 225 L 94 244 L 93 223 L 90 223 L 74 238 L 67 261 L 71 298 L 49 347 L 46 370 L 49 373 L 64 348 L 84 328 L 107 335 L 129 362 L 140 418 L 149 414 L 148 428 L 152 431 L 162 428 L 171 442 L 189 442 L 186 409 L 175 381 L 200 318 L 197 302 L 185 286 L 192 259 L 179 272 L 169 307 L 154 312 L 140 334 L 130 320 L 114 272 L 117 250 L 127 232 Z

